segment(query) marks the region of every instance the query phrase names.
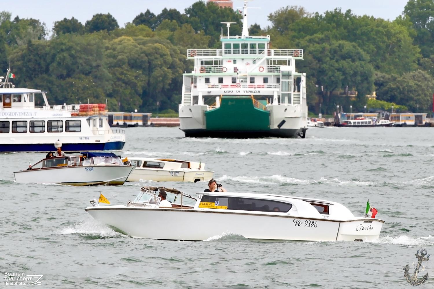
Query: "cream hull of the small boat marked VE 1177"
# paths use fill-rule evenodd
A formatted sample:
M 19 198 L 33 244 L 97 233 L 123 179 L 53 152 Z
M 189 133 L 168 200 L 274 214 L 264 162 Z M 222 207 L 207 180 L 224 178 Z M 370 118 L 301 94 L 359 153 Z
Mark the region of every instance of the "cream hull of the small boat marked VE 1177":
M 155 181 L 155 182 L 203 182 L 213 177 L 213 171 L 189 170 L 173 171 L 162 169 L 143 169 L 136 167 L 128 176 L 127 182 Z

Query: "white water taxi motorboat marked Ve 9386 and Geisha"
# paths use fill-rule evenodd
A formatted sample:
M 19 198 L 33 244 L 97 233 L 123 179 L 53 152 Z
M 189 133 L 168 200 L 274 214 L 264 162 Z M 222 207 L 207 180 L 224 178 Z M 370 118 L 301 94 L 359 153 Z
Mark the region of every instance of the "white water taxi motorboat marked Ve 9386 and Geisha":
M 171 207 L 158 206 L 158 191 L 171 193 Z M 85 211 L 130 237 L 161 240 L 199 241 L 225 232 L 260 240 L 374 240 L 385 222 L 355 217 L 332 201 L 233 192 L 197 195 L 143 187 L 126 205 L 99 206 L 92 200 Z M 155 226 L 155 220 L 164 225 Z

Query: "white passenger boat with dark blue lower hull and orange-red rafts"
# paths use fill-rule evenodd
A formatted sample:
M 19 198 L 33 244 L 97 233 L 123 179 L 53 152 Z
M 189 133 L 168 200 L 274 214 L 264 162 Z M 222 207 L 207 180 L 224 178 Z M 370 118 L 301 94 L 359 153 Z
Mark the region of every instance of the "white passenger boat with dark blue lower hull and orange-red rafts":
M 15 88 L 9 74 L 10 69 L 0 82 L 0 152 L 48 152 L 56 150 L 56 141 L 65 152 L 123 148 L 124 130 L 112 130 L 107 116 L 72 117 L 78 107 L 50 106 L 44 91 Z M 41 95 L 43 106 L 38 107 L 35 101 Z

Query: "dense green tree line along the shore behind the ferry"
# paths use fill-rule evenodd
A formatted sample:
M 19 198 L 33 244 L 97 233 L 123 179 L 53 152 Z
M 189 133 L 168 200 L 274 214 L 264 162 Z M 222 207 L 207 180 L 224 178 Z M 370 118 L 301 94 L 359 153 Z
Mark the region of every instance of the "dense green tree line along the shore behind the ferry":
M 393 21 L 339 8 L 309 13 L 300 6 L 283 7 L 268 19 L 270 26 L 255 23 L 249 33 L 270 35 L 273 49 L 304 49 L 297 70 L 307 75 L 309 111 L 330 114 L 336 105 L 362 111 L 373 103 L 431 110 L 434 0 L 409 0 Z M 16 86 L 48 91 L 53 104 L 89 99 L 107 100 L 111 111 L 177 110 L 182 73 L 193 68 L 186 50 L 219 49 L 220 22 L 238 23 L 231 35 L 241 34 L 237 10 L 202 1 L 184 13 L 146 10 L 124 28 L 110 14 L 84 24 L 65 18 L 54 23 L 51 36 L 38 19 L 12 19 L 3 11 L 0 71 L 10 59 Z M 372 91 L 379 102 L 367 102 Z

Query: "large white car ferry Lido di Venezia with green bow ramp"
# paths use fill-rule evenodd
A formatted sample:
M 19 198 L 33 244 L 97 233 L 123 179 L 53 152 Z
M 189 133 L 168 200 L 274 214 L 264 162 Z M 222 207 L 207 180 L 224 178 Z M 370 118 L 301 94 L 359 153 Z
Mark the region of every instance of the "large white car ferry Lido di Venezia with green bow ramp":
M 270 36 L 249 36 L 247 0 L 241 36 L 221 36 L 221 49 L 188 49 L 194 70 L 183 74 L 180 128 L 185 136 L 304 137 L 306 74 L 302 49 L 270 49 Z

